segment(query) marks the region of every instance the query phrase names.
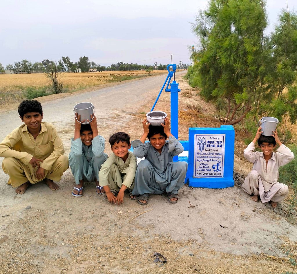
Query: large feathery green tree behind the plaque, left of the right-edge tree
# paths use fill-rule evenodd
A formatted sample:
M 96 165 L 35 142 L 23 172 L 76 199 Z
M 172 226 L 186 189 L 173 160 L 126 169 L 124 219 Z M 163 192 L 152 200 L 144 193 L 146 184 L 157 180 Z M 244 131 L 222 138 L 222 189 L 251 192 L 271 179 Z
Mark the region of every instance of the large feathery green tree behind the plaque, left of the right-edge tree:
M 228 125 L 242 121 L 268 93 L 266 26 L 265 3 L 260 0 L 211 0 L 192 24 L 200 40 L 192 55 L 200 95 L 208 101 L 228 101 Z

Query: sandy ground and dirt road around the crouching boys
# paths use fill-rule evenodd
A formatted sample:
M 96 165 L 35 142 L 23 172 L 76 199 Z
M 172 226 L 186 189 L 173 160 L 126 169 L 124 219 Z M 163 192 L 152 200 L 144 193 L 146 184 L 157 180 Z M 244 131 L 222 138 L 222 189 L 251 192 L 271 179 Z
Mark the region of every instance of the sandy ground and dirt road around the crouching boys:
M 191 89 L 182 75 L 176 75 L 179 88 Z M 44 120 L 56 125 L 66 153 L 73 135 L 69 109 L 69 105 L 73 108 L 72 100 L 92 101 L 95 107 L 100 106 L 96 116 L 99 133 L 106 140 L 119 130 L 129 133 L 132 140 L 140 138 L 141 119 L 150 110 L 165 78 L 156 76 L 105 86 L 99 91 L 90 88 L 71 96 L 40 98 Z M 179 97 L 183 114 L 189 111 L 187 103 L 193 102 L 200 103 L 203 112 L 198 120 L 180 121 L 181 140 L 188 139 L 189 123 L 200 127 L 220 125 L 205 118 L 214 112 L 213 107 L 194 97 Z M 0 112 L 1 139 L 20 125 L 16 107 L 11 105 Z M 155 109 L 170 113 L 169 93 L 162 93 Z M 110 153 L 108 144 L 105 148 Z M 268 203 L 252 201 L 240 188 L 252 166 L 236 156 L 234 164 L 233 188 L 184 185 L 178 203 L 170 204 L 165 196 L 152 195 L 146 206 L 129 200 L 128 195 L 122 205 L 109 204 L 104 195 L 96 195 L 94 183 L 85 183 L 83 196 L 75 198 L 71 196 L 74 179 L 70 169 L 59 182 L 58 191 L 38 183 L 18 195 L 6 184 L 8 177 L 1 170 L 0 273 L 292 271 L 282 252 L 282 245 L 296 242 L 297 237 L 295 220 L 286 216 L 287 203 L 273 209 Z M 154 263 L 154 252 L 165 256 L 167 263 Z

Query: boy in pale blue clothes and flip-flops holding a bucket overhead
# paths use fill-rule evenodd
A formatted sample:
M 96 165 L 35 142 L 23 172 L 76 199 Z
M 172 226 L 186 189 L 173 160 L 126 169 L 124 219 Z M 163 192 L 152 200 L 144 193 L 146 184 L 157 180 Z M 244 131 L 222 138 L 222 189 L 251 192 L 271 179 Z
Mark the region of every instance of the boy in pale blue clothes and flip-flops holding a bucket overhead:
M 105 140 L 98 135 L 97 119 L 94 116 L 89 124 L 81 124 L 80 115 L 75 119 L 74 138 L 71 138 L 71 148 L 69 153 L 69 166 L 75 178 L 76 187 L 73 188 L 72 196 L 81 197 L 83 195 L 83 182 L 96 183 L 96 193 L 103 194 L 103 187 L 99 185 L 98 173 L 101 165 L 107 159 L 104 153 Z M 82 121 L 82 123 L 85 120 Z M 87 119 L 89 122 L 89 120 Z

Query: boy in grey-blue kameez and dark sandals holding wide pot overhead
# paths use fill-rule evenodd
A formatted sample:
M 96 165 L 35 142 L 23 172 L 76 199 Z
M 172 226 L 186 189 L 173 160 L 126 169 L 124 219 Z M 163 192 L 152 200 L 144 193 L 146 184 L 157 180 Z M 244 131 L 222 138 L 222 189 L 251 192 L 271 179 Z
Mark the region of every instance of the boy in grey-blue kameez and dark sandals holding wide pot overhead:
M 173 156 L 184 151 L 181 143 L 170 133 L 169 119 L 164 119 L 161 126 L 151 126 L 143 120 L 143 136 L 133 141 L 133 154 L 140 161 L 135 174 L 134 195 L 140 195 L 139 204 L 148 202 L 149 194 L 166 193 L 171 203 L 178 201 L 178 190 L 184 185 L 188 164 L 186 162 L 173 162 Z M 169 141 L 166 141 L 169 137 Z M 148 143 L 145 143 L 149 138 Z

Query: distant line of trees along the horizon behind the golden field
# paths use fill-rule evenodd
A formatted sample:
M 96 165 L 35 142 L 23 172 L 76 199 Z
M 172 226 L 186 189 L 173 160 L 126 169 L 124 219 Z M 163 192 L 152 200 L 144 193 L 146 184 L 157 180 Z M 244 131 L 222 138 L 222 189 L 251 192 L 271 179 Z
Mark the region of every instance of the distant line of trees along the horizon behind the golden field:
M 48 59 L 42 60 L 42 62 L 30 62 L 28 60 L 21 60 L 20 62 L 14 62 L 14 64 L 7 64 L 5 67 L 6 70 L 14 70 L 17 73 L 25 72 L 46 72 L 48 67 L 56 62 Z M 178 69 L 186 69 L 189 65 L 182 64 L 180 61 L 177 64 Z M 117 64 L 111 64 L 108 67 L 101 66 L 95 62 L 89 61 L 89 57 L 83 56 L 79 57 L 78 62 L 70 61 L 68 56 L 62 56 L 62 59 L 58 61 L 56 64 L 56 69 L 58 72 L 77 72 L 79 69 L 81 72 L 89 72 L 89 69 L 96 69 L 97 71 L 114 71 L 114 70 L 147 70 L 148 68 L 152 68 L 153 70 L 165 70 L 167 68 L 167 64 L 157 64 L 157 62 L 152 65 L 138 65 L 132 63 L 123 63 L 118 62 Z M 0 71 L 4 71 L 3 65 L 0 63 Z

